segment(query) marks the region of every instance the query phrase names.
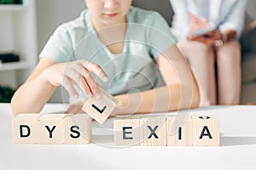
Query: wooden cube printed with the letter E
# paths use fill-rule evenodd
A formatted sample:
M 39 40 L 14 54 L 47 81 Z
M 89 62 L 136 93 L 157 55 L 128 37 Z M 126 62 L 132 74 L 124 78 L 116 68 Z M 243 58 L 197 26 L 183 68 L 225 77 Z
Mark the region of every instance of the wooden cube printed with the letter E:
M 139 145 L 141 116 L 116 116 L 113 121 L 114 144 Z

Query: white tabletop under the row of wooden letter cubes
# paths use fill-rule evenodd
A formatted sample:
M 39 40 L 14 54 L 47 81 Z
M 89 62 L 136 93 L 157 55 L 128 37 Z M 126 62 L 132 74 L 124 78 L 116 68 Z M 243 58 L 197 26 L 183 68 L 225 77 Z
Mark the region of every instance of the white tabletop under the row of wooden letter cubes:
M 66 107 L 48 104 L 43 112 Z M 189 113 L 219 116 L 221 146 L 115 148 L 109 130 L 113 119 L 106 122 L 109 129 L 93 123 L 96 144 L 13 144 L 13 114 L 9 104 L 0 104 L 0 169 L 256 169 L 256 106 L 211 106 Z

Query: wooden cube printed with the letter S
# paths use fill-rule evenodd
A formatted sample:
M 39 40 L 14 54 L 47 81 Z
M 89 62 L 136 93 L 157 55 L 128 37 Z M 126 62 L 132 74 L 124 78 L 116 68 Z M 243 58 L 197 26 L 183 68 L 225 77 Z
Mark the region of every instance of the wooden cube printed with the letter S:
M 65 144 L 89 144 L 91 140 L 91 117 L 87 114 L 68 114 L 66 117 Z

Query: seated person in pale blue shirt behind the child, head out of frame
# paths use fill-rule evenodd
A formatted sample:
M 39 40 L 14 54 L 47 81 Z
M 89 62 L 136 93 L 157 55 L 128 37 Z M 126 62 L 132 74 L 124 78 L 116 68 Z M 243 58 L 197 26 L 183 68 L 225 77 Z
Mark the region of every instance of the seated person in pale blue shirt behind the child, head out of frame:
M 219 105 L 239 104 L 241 47 L 237 39 L 247 0 L 170 1 L 175 14 L 172 32 L 195 74 L 200 105 L 216 105 L 217 100 Z

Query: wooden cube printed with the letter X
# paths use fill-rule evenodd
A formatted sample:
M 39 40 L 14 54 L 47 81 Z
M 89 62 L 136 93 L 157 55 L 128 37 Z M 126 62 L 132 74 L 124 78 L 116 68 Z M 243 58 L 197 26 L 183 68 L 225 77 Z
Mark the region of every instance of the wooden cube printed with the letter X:
M 151 116 L 140 119 L 140 145 L 166 146 L 166 116 Z

